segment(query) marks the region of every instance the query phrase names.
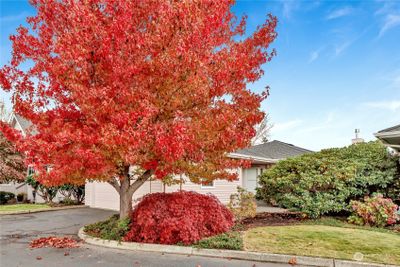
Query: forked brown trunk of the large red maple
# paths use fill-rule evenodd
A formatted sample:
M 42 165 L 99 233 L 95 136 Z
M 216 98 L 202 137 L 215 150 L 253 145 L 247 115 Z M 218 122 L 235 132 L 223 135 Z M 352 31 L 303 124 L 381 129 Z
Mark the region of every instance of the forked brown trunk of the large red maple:
M 118 179 L 119 182 L 116 178 L 108 181 L 108 183 L 111 184 L 119 194 L 120 219 L 131 216 L 133 193 L 135 193 L 152 175 L 152 171 L 147 170 L 131 184 L 128 171 L 129 170 L 126 171 L 124 177 Z

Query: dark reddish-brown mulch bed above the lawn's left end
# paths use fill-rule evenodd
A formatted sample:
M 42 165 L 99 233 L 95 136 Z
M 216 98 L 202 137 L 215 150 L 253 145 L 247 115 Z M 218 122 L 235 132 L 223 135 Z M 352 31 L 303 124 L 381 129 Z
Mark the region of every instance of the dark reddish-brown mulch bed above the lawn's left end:
M 301 213 L 284 212 L 284 213 L 258 213 L 254 218 L 247 218 L 242 221 L 245 229 L 259 226 L 282 226 L 298 224 L 306 220 Z

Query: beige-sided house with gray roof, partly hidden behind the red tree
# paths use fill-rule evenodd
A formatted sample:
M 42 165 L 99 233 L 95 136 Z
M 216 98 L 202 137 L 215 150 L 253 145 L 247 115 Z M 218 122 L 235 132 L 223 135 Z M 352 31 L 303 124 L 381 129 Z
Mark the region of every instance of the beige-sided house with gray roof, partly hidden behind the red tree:
M 174 192 L 180 189 L 196 191 L 199 193 L 214 194 L 222 203 L 227 204 L 231 194 L 241 186 L 250 192 L 255 192 L 258 184 L 258 176 L 267 168 L 282 159 L 299 156 L 312 151 L 300 148 L 281 141 L 272 141 L 264 144 L 241 149 L 228 156 L 235 159 L 247 159 L 251 161 L 250 168 L 233 170 L 238 173 L 238 180 L 215 180 L 207 185 L 194 184 L 182 177 L 182 185 L 166 186 L 159 180 L 147 181 L 133 195 L 134 202 L 148 194 L 155 192 Z M 119 196 L 115 189 L 108 183 L 87 182 L 85 185 L 85 204 L 94 208 L 119 209 Z

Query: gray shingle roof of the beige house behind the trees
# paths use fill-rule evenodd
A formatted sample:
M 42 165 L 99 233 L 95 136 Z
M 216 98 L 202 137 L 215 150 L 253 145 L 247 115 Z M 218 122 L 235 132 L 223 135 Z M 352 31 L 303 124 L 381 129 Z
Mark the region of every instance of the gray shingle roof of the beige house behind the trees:
M 285 159 L 311 152 L 313 151 L 297 147 L 292 144 L 274 140 L 264 144 L 255 145 L 249 148 L 240 149 L 235 153 L 251 157 L 262 157 L 268 159 Z

